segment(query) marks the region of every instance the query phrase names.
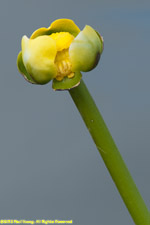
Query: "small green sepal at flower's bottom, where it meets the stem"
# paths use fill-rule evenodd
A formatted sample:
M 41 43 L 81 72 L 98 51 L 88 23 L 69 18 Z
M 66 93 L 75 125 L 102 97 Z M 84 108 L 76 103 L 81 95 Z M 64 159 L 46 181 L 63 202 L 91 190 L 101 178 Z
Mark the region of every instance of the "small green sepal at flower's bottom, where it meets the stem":
M 70 90 L 74 87 L 77 87 L 80 84 L 82 74 L 80 72 L 75 72 L 73 78 L 64 77 L 62 81 L 53 79 L 52 88 L 55 91 Z

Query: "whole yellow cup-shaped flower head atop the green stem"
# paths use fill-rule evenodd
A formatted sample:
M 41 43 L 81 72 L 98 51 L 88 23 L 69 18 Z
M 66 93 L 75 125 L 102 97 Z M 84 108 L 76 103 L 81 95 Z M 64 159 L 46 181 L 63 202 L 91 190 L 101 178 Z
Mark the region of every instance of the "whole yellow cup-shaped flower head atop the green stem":
M 58 19 L 48 28 L 23 36 L 17 58 L 20 73 L 30 83 L 46 84 L 64 90 L 79 85 L 80 71 L 97 65 L 103 51 L 103 39 L 92 27 L 80 31 L 69 19 Z

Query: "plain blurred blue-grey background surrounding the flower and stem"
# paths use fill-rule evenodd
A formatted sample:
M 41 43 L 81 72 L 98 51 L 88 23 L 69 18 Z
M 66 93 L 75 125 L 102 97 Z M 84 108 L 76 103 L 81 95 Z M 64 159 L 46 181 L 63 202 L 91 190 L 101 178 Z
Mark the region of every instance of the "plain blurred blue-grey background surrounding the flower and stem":
M 22 36 L 58 18 L 104 37 L 83 79 L 150 207 L 150 1 L 0 0 L 0 219 L 133 225 L 68 92 L 17 71 Z

